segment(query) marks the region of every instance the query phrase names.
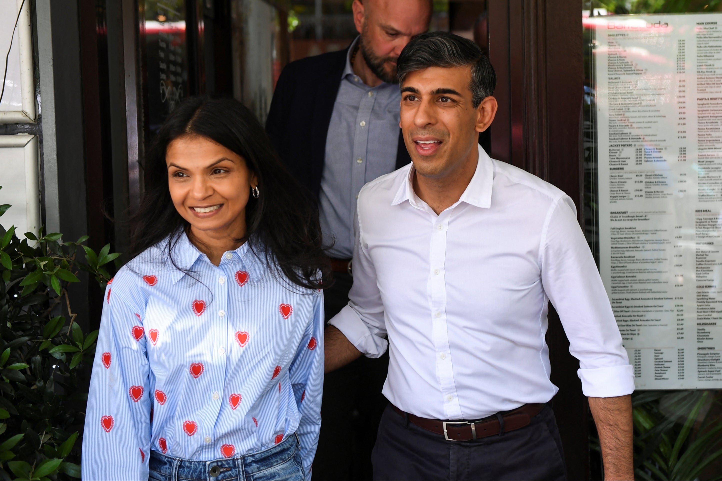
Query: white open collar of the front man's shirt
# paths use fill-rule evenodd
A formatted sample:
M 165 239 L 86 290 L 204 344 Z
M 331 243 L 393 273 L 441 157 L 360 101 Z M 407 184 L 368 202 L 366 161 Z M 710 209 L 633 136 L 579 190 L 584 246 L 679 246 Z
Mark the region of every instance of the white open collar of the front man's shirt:
M 482 207 L 488 209 L 492 204 L 492 186 L 494 183 L 494 165 L 492 159 L 484 152 L 482 146 L 479 145 L 479 160 L 477 162 L 477 170 L 474 171 L 474 175 L 471 177 L 469 185 L 466 186 L 464 194 L 458 199 L 458 202 L 466 202 L 475 207 Z M 393 198 L 391 205 L 398 205 L 401 202 L 409 201 L 410 204 L 415 207 L 419 207 L 423 201 L 419 199 L 414 192 L 414 185 L 412 183 L 412 175 L 414 175 L 414 164 L 413 162 L 406 166 L 407 172 L 404 182 L 399 186 L 399 190 L 396 191 L 396 196 Z

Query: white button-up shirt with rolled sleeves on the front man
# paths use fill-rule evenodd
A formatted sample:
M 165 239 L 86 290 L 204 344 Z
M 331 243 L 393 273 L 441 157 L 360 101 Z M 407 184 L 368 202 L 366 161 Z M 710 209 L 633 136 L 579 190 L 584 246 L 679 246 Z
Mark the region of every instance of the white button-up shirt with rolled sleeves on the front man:
M 354 285 L 330 323 L 367 357 L 390 345 L 384 396 L 442 420 L 548 402 L 557 392 L 544 341 L 549 300 L 580 360 L 584 394 L 632 393 L 632 366 L 569 196 L 479 147 L 461 199 L 436 215 L 414 193 L 412 169 L 362 188 Z

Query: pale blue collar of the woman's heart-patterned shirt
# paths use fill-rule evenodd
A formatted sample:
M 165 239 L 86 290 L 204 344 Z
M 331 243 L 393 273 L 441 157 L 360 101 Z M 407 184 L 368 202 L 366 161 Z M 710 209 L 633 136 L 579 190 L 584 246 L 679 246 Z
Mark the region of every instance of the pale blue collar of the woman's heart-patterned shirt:
M 173 261 L 175 261 L 175 265 L 178 266 L 175 267 L 169 262 L 168 268 L 170 269 L 170 277 L 173 280 L 173 284 L 181 280 L 181 278 L 186 275 L 184 271 L 191 270 L 201 256 L 204 257 L 206 262 L 210 262 L 205 254 L 199 251 L 196 246 L 193 246 L 193 243 L 188 239 L 188 235 L 185 232 L 180 235 L 178 241 L 171 247 L 173 248 Z M 231 259 L 226 258 L 226 255 L 229 253 L 232 256 Z M 228 251 L 223 254 L 219 265 L 222 267 L 224 263 L 237 263 L 240 259 L 251 280 L 258 282 L 266 270 L 266 263 L 261 260 L 259 256 L 264 256 L 264 252 L 259 251 L 258 253 L 254 253 L 250 246 L 248 246 L 248 242 L 245 242 L 242 246 L 235 249 L 235 251 Z

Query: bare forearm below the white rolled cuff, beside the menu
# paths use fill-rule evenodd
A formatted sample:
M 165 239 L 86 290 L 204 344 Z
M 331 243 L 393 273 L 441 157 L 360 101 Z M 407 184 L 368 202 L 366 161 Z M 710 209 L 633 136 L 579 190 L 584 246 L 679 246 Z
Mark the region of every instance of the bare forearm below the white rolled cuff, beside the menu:
M 634 480 L 632 397 L 627 395 L 588 399 L 591 415 L 599 433 L 604 480 Z

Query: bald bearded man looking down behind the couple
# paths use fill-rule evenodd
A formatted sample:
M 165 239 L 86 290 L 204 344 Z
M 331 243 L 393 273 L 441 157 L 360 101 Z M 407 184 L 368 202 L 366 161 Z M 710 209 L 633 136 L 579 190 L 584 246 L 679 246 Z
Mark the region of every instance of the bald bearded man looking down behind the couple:
M 326 320 L 349 301 L 359 191 L 411 162 L 399 129 L 396 58 L 432 14 L 430 0 L 355 0 L 352 8 L 360 35 L 343 51 L 288 64 L 266 121 L 284 164 L 318 199 L 324 241 L 334 243 Z M 326 375 L 314 480 L 371 478 L 387 370 L 388 355 Z

